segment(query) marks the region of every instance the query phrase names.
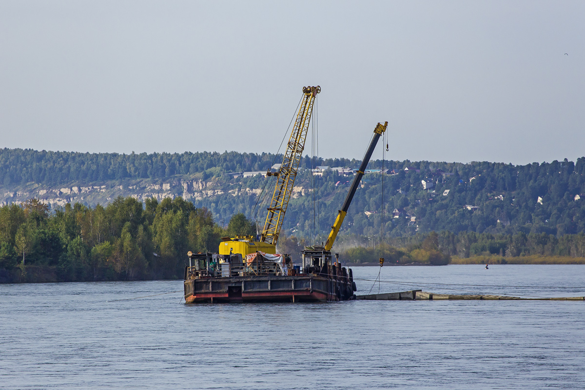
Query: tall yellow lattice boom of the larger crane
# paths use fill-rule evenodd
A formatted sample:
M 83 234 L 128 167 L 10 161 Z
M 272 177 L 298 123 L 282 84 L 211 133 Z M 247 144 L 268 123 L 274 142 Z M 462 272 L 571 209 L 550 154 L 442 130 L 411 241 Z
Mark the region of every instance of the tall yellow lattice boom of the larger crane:
M 270 173 L 277 177 L 272 201 L 268 208 L 266 223 L 260 241 L 276 245 L 280 228 L 283 226 L 284 213 L 287 211 L 288 200 L 291 197 L 292 186 L 297 177 L 298 165 L 301 161 L 302 151 L 305 149 L 305 139 L 311 122 L 313 105 L 321 87 L 304 87 L 301 106 L 297 113 L 294 127 L 287 143 L 283 163 L 278 172 Z

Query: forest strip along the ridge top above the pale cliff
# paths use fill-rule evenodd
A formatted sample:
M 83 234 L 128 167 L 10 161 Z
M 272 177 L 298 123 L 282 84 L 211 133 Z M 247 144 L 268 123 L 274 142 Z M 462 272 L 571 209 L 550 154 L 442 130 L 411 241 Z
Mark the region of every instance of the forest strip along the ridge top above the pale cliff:
M 281 163 L 282 154 L 238 153 L 79 153 L 0 149 L 0 184 L 4 187 L 34 182 L 43 185 L 78 185 L 122 179 L 164 179 L 173 175 L 219 177 L 225 172 L 267 171 Z M 315 160 L 318 164 L 350 165 L 354 160 Z M 305 156 L 301 166 L 311 167 Z

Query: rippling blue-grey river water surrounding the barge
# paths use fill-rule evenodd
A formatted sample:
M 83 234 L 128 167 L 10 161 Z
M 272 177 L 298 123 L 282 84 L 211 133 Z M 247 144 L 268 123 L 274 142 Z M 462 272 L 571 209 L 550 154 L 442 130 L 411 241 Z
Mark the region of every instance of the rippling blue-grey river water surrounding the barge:
M 378 267 L 353 270 L 357 294 L 585 295 L 583 265 L 383 267 L 374 287 Z M 0 389 L 585 387 L 583 301 L 116 301 L 182 288 L 0 285 Z

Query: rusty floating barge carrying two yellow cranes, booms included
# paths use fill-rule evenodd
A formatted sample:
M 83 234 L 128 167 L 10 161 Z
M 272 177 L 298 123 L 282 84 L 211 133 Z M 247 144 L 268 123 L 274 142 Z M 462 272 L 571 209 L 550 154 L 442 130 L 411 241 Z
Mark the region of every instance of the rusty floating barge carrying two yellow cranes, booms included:
M 356 299 L 357 290 L 350 268 L 342 267 L 339 254 L 331 249 L 343 218 L 371 154 L 388 122 L 374 129 L 362 164 L 353 178 L 342 209 L 324 246 L 305 247 L 302 265 L 293 265 L 290 257 L 276 254 L 278 234 L 291 196 L 298 165 L 307 137 L 312 108 L 320 87 L 303 88 L 304 98 L 295 120 L 283 163 L 277 172 L 272 202 L 259 240 L 252 236 L 225 237 L 219 253 L 187 254 L 184 293 L 187 303 L 215 302 L 319 302 Z

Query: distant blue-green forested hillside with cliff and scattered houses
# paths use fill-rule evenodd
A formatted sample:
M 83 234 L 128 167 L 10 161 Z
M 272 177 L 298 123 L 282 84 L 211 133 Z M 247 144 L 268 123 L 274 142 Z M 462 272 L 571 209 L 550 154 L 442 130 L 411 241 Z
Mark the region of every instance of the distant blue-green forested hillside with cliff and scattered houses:
M 219 223 L 227 223 L 237 212 L 261 220 L 263 210 L 256 213 L 253 208 L 271 179 L 226 173 L 266 171 L 280 160 L 273 154 L 236 152 L 90 154 L 4 149 L 0 202 L 36 197 L 51 206 L 105 205 L 118 195 L 140 200 L 181 196 L 197 207 L 207 207 Z M 340 158 L 317 164 L 357 168 L 359 162 Z M 377 160 L 369 168 L 381 166 Z M 321 234 L 324 240 L 352 177 L 331 170 L 315 177 L 306 169 L 311 167 L 308 156 L 302 167 L 283 227 L 288 234 Z M 365 175 L 342 235 L 376 236 L 382 207 L 386 232 L 394 237 L 432 230 L 556 236 L 585 232 L 585 196 L 579 196 L 585 194 L 585 158 L 528 165 L 386 161 L 384 168 L 390 170 L 387 175 Z

